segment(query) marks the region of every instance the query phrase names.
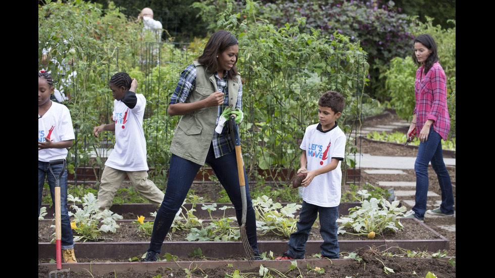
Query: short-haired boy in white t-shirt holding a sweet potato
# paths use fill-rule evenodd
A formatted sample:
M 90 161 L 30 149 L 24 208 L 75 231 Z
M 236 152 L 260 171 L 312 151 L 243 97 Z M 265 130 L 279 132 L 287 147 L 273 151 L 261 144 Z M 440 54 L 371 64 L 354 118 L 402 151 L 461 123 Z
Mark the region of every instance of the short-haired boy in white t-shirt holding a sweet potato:
M 289 250 L 276 258 L 278 260 L 304 259 L 304 247 L 318 213 L 323 238 L 321 255 L 330 259 L 339 257 L 336 220 L 342 180 L 340 161 L 344 159 L 346 140 L 336 120 L 340 117 L 344 104 L 345 99 L 340 93 L 324 93 L 318 101 L 320 122 L 306 128 L 301 143 L 303 153 L 298 173 L 306 173 L 307 177 L 301 184 L 304 191 L 303 206 L 297 223 L 298 231 L 290 235 Z

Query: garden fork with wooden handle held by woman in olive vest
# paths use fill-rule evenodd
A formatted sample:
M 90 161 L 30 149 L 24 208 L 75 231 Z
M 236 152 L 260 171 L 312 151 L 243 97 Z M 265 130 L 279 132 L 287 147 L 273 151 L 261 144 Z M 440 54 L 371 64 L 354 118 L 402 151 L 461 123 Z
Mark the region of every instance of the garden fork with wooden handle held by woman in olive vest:
M 242 218 L 241 225 L 239 227 L 240 239 L 242 241 L 244 251 L 246 252 L 246 255 L 248 255 L 248 262 L 251 265 L 251 261 L 254 259 L 254 256 L 253 249 L 251 249 L 251 246 L 249 245 L 248 235 L 246 234 L 246 213 L 248 210 L 248 202 L 246 201 L 246 184 L 244 182 L 243 168 L 244 163 L 242 161 L 242 153 L 240 151 L 239 133 L 237 131 L 237 126 L 235 125 L 235 115 L 230 116 L 230 137 L 235 143 L 235 158 L 237 162 L 237 174 L 239 176 L 240 197 L 242 201 Z

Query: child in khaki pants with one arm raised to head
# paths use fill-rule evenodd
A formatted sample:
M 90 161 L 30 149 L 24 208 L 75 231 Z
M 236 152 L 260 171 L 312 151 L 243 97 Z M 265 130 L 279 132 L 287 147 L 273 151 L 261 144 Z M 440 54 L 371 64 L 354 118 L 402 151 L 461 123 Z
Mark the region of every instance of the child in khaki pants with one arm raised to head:
M 146 172 L 146 140 L 142 129 L 146 99 L 142 94 L 135 93 L 137 81 L 125 72 L 112 76 L 109 87 L 115 98 L 113 122 L 93 130 L 96 137 L 105 130 L 115 131 L 115 146 L 105 162 L 98 191 L 100 211 L 110 209 L 115 193 L 126 175 L 134 189 L 158 208 L 162 204 L 164 193 L 147 179 Z

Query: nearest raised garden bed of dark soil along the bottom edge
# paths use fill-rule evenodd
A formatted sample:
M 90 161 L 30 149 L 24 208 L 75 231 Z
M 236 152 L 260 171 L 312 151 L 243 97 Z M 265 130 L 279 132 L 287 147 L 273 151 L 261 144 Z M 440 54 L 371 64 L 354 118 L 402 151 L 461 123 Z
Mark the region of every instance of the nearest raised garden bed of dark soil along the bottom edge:
M 359 263 L 352 259 L 306 259 L 297 260 L 303 277 L 345 277 L 357 275 L 357 277 L 383 277 L 386 276 L 383 271 L 383 265 L 372 257 L 366 257 L 366 264 Z M 398 276 L 413 276 L 413 271 L 419 277 L 424 277 L 428 271 L 440 274 L 441 277 L 456 277 L 455 267 L 452 267 L 447 261 L 450 258 L 432 259 L 432 258 L 398 258 L 385 257 L 379 258 L 385 265 L 394 269 Z M 454 258 L 455 259 L 455 258 Z M 91 263 L 74 263 L 63 264 L 62 268 L 70 267 L 71 277 L 95 277 L 95 275 L 109 275 L 105 277 L 154 277 L 158 274 L 163 277 L 189 277 L 186 276 L 184 269 L 195 269 L 193 277 L 209 278 L 224 277 L 225 273 L 232 274 L 235 270 L 241 273 L 259 273 L 260 265 L 263 267 L 277 269 L 283 273 L 289 271 L 292 261 L 255 261 L 250 264 L 248 261 L 239 260 L 221 260 L 221 261 L 171 261 L 171 262 L 91 262 Z M 366 266 L 364 266 L 366 265 Z M 323 268 L 323 274 L 307 273 L 308 268 Z M 49 271 L 56 270 L 54 263 L 42 263 L 38 265 L 38 276 L 47 277 Z M 358 275 L 359 273 L 359 275 Z M 286 277 L 296 277 L 300 272 L 292 270 L 286 273 Z M 393 273 L 392 273 L 393 274 Z M 395 277 L 395 275 L 393 275 Z M 250 277 L 260 277 L 259 275 L 250 275 Z M 279 276 L 277 276 L 279 277 Z M 402 277 L 402 276 L 401 276 Z

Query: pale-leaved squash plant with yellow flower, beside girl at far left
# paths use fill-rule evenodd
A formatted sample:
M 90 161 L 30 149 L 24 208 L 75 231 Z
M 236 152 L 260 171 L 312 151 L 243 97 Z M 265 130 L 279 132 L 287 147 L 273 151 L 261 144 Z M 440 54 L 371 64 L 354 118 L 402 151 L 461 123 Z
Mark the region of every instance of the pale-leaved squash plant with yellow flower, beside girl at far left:
M 119 228 L 116 220 L 122 219 L 122 215 L 113 213 L 108 209 L 100 212 L 98 200 L 92 193 L 86 194 L 82 201 L 72 195 L 69 195 L 67 200 L 73 202 L 71 208 L 75 210 L 75 213 L 69 211 L 69 216 L 74 217 L 74 221 L 71 223 L 72 229 L 78 235 L 74 237 L 74 241 L 82 239 L 84 242 L 87 240 L 95 241 L 100 238 L 102 232 L 115 233 L 116 229 Z M 82 208 L 77 206 L 76 202 L 82 203 Z

